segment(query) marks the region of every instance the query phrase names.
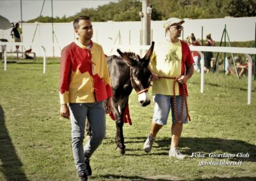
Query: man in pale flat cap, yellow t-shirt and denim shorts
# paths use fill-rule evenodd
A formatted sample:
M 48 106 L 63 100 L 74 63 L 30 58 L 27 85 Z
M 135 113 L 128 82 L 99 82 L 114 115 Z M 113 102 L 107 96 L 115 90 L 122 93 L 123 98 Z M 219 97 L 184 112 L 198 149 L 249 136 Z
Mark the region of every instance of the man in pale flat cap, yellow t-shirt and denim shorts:
M 183 97 L 188 96 L 186 82 L 193 75 L 193 57 L 188 45 L 179 40 L 184 20 L 169 18 L 165 23 L 167 41 L 155 45 L 150 69 L 152 71 L 152 94 L 154 95 L 154 117 L 151 131 L 144 143 L 143 150 L 150 152 L 158 131 L 167 124 L 168 115 L 172 111 L 172 144 L 170 157 L 184 159 L 178 148 L 182 126 L 188 123 L 187 104 Z M 175 83 L 175 85 L 174 85 Z M 175 88 L 175 90 L 173 90 Z M 183 103 L 182 103 L 183 101 Z M 182 108 L 183 106 L 183 108 Z

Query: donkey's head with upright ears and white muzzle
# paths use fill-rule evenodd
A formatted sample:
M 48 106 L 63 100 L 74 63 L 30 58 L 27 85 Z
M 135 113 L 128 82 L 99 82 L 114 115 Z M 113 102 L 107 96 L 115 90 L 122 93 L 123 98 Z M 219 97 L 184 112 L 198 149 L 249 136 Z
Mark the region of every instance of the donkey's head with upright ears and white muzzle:
M 147 106 L 150 104 L 148 98 L 148 89 L 150 86 L 151 71 L 148 69 L 148 63 L 154 50 L 154 41 L 147 51 L 147 54 L 141 59 L 140 55 L 136 55 L 132 52 L 121 52 L 117 50 L 121 55 L 125 63 L 131 68 L 131 84 L 133 89 L 138 94 L 139 102 L 141 106 Z

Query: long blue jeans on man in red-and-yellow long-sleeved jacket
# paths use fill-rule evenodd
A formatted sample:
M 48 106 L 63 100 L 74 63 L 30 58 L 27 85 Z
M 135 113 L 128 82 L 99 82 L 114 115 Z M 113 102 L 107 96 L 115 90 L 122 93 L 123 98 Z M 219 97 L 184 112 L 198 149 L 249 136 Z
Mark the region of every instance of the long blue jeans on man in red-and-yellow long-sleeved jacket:
M 70 103 L 72 126 L 72 151 L 78 175 L 86 170 L 84 159 L 90 159 L 106 134 L 106 112 L 104 101 L 96 103 Z M 92 137 L 83 147 L 86 117 L 90 122 Z

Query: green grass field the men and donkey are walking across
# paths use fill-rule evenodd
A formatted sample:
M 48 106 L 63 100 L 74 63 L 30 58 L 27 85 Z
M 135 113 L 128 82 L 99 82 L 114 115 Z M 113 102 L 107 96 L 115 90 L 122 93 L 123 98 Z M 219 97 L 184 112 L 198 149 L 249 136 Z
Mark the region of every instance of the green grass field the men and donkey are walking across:
M 58 59 L 48 59 L 44 75 L 42 60 L 8 63 L 7 71 L 0 63 L 0 180 L 78 179 L 70 122 L 59 116 L 59 67 Z M 90 180 L 256 180 L 256 82 L 250 106 L 246 77 L 209 73 L 202 94 L 195 73 L 188 87 L 192 121 L 184 126 L 180 149 L 205 157 L 170 159 L 170 122 L 157 135 L 152 152 L 143 152 L 154 103 L 142 108 L 132 92 L 133 125 L 124 126 L 126 154 L 115 150 L 115 122 L 107 115 L 106 139 L 92 156 Z M 210 157 L 224 153 L 234 156 Z M 198 166 L 228 161 L 239 165 Z

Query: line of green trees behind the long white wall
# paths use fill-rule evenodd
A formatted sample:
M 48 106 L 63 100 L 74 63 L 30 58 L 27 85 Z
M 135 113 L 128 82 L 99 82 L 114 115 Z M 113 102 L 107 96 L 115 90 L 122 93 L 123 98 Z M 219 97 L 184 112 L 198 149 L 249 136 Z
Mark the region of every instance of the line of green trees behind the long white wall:
M 256 16 L 256 0 L 151 0 L 151 4 L 152 20 Z M 54 17 L 53 22 L 72 22 L 80 15 L 89 16 L 93 22 L 140 21 L 141 6 L 140 0 L 119 0 L 97 8 L 82 8 L 70 17 Z M 52 22 L 52 18 L 41 16 L 27 22 Z

